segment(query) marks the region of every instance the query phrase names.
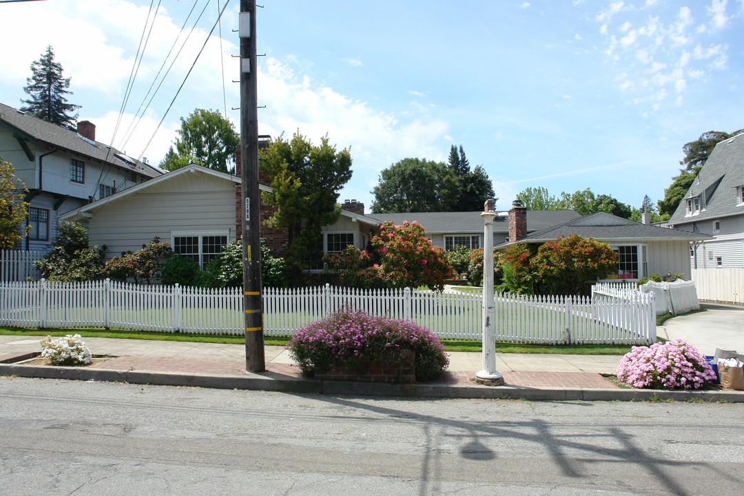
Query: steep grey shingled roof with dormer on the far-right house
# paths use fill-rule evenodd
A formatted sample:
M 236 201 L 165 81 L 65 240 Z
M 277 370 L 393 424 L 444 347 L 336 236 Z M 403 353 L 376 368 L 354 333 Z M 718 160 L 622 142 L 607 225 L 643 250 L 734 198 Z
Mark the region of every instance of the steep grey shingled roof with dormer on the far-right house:
M 744 205 L 737 202 L 737 187 L 744 186 L 744 133 L 720 141 L 690 189 L 682 197 L 670 224 L 684 224 L 703 219 L 744 214 Z M 687 215 L 687 200 L 700 197 L 700 211 Z

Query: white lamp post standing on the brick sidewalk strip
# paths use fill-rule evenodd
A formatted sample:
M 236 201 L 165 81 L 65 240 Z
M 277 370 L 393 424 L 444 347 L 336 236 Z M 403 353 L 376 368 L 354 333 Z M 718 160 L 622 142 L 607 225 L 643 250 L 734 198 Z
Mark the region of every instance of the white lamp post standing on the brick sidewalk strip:
M 496 217 L 496 200 L 487 199 L 483 206 L 483 370 L 475 373 L 481 384 L 501 386 L 504 376 L 496 370 L 496 332 L 494 330 L 493 298 L 493 218 Z

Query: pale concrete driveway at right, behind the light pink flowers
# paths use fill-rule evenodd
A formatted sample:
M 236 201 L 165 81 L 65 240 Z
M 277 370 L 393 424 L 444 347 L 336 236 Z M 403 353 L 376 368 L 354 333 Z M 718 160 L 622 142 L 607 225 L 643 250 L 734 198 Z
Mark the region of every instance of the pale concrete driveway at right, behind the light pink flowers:
M 700 312 L 670 318 L 656 328 L 660 338 L 684 339 L 705 355 L 716 348 L 744 353 L 744 306 L 700 303 Z

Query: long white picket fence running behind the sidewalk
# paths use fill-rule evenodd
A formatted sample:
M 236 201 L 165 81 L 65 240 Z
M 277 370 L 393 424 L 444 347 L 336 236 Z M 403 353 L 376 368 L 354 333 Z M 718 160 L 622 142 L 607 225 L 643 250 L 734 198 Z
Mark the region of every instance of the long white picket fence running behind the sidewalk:
M 443 339 L 481 339 L 479 292 L 318 286 L 263 291 L 267 336 L 289 336 L 343 307 L 404 318 Z M 496 294 L 497 340 L 545 344 L 649 344 L 655 341 L 653 294 L 525 297 Z M 0 283 L 0 326 L 242 335 L 240 288 L 203 289 L 91 283 Z

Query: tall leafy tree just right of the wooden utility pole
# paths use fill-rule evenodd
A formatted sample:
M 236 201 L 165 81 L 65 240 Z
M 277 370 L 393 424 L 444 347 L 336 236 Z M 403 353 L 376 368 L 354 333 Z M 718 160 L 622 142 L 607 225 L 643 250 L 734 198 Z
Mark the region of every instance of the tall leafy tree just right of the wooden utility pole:
M 259 167 L 271 178 L 272 187 L 262 198 L 276 207 L 266 223 L 287 228 L 285 258 L 294 274 L 289 280 L 300 282 L 306 260 L 321 258 L 321 228 L 341 215 L 337 202 L 341 187 L 351 178 L 351 153 L 349 149 L 337 151 L 327 135 L 315 146 L 298 131 L 292 140 L 280 136 L 262 150 Z

